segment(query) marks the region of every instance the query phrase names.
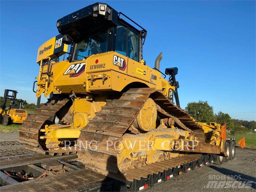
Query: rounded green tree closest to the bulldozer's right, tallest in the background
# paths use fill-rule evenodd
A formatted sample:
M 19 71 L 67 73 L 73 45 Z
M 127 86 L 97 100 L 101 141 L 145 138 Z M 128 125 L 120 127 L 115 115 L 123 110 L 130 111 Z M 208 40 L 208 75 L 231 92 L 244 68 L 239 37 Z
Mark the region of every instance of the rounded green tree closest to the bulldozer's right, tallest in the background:
M 190 102 L 185 110 L 198 122 L 216 122 L 213 107 L 207 101 Z

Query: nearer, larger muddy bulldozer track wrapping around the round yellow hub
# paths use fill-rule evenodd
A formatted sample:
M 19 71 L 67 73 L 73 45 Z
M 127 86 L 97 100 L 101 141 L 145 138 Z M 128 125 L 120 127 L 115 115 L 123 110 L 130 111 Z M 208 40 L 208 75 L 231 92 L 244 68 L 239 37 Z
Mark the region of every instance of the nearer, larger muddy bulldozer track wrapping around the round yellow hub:
M 199 140 L 205 140 L 202 128 L 191 119 L 187 112 L 170 102 L 161 92 L 156 91 L 154 88 L 134 88 L 123 93 L 120 99 L 107 100 L 106 105 L 102 106 L 101 111 L 96 113 L 95 117 L 89 120 L 89 123 L 81 130 L 76 145 L 80 147 L 78 150 L 78 161 L 82 162 L 87 169 L 121 180 L 120 177 L 123 176 L 123 173 L 120 173 L 117 167 L 117 151 L 115 150 L 115 146 L 108 146 L 106 141 L 115 143 L 121 140 L 121 137 L 131 127 L 132 122 L 148 98 L 153 99 L 158 106 L 161 106 L 161 110 L 159 109 L 157 112 L 162 114 L 169 113 L 175 116 L 177 118 L 176 124 L 181 129 L 189 127 L 193 131 L 193 134 L 199 137 Z M 84 147 L 88 146 L 85 143 L 86 141 L 87 143 L 96 141 L 97 144 L 92 144 L 91 146 L 97 145 L 97 150 L 90 150 L 90 148 Z M 108 150 L 106 150 L 107 146 L 109 147 Z M 177 158 L 183 159 L 183 162 L 180 163 L 186 163 L 188 160 L 193 161 L 199 158 L 199 156 L 194 155 L 192 159 Z M 167 161 L 164 161 L 166 165 L 162 162 L 158 163 L 158 169 L 162 170 L 166 166 L 174 166 L 170 162 L 167 163 Z M 150 167 L 153 164 L 145 166 Z M 129 173 L 125 172 L 124 179 L 132 181 L 134 178 L 139 179 L 145 176 L 146 173 L 141 171 L 143 167 L 140 171 L 137 168 L 135 169 L 134 172 L 132 171 L 133 169 L 130 169 Z

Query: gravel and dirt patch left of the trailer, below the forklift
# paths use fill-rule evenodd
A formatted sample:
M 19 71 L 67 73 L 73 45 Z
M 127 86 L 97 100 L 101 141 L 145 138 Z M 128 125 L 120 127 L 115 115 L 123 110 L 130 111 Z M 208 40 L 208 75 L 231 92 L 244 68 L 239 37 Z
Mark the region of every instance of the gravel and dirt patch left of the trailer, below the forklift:
M 35 153 L 27 150 L 25 145 L 18 142 L 18 139 L 18 133 L 0 134 L 0 157 Z

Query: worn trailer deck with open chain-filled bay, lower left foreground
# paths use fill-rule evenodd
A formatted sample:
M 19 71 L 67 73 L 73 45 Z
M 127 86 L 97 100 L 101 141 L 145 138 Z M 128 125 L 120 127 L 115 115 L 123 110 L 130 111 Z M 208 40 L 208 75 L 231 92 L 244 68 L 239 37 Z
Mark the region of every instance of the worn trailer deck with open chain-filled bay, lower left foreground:
M 77 161 L 77 155 L 50 156 L 28 154 L 2 157 L 1 160 L 1 191 L 91 191 L 113 182 L 113 179 L 84 169 Z M 41 164 L 59 162 L 65 173 L 48 173 L 38 178 L 46 169 Z M 27 180 L 8 174 L 29 173 L 35 179 Z M 7 174 L 6 174 L 7 173 Z M 49 185 L 50 184 L 50 185 Z

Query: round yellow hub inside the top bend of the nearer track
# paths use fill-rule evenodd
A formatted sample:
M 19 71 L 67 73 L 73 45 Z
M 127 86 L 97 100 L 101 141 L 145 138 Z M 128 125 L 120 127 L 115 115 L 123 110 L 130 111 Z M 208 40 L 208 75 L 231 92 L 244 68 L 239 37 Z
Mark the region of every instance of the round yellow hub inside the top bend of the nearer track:
M 156 128 L 156 103 L 148 98 L 141 108 L 139 114 L 133 121 L 133 126 L 143 131 L 150 131 Z

